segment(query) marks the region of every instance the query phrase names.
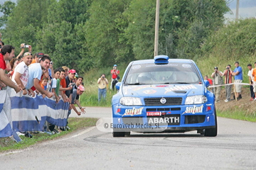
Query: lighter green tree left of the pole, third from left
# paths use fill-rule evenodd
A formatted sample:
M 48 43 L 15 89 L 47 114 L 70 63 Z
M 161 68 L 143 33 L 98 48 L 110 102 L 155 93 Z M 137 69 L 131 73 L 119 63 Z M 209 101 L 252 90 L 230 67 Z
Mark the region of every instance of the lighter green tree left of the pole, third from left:
M 90 56 L 95 65 L 105 66 L 134 60 L 131 46 L 127 45 L 124 28 L 127 20 L 123 16 L 129 0 L 93 1 L 90 19 L 86 23 L 86 40 Z

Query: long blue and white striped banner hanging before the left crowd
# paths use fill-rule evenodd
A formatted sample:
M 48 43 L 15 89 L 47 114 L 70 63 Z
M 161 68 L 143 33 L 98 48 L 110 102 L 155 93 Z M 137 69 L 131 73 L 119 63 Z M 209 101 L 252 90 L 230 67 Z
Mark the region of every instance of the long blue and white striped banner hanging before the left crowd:
M 43 96 L 23 96 L 22 92 L 16 94 L 11 90 L 11 116 L 15 131 L 43 131 L 46 123 L 65 126 L 68 118 L 69 103 Z

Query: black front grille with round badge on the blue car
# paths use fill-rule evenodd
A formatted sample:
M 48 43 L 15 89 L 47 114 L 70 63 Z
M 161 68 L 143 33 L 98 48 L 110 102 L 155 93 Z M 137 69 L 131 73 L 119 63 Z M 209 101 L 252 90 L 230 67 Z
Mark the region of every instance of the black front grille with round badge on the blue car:
M 181 105 L 182 98 L 174 97 L 174 98 L 165 98 L 166 103 L 161 103 L 161 98 L 144 98 L 144 102 L 146 106 L 175 106 Z

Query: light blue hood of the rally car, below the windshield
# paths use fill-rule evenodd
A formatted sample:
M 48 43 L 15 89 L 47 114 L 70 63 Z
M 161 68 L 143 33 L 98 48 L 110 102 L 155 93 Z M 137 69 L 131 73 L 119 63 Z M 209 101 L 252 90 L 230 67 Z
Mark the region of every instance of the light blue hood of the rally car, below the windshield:
M 164 84 L 122 86 L 123 96 L 134 97 L 170 97 L 203 95 L 202 84 Z

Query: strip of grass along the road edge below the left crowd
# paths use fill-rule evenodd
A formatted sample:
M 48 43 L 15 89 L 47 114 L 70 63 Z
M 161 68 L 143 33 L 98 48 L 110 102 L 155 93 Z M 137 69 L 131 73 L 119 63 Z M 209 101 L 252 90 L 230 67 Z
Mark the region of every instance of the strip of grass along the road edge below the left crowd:
M 75 130 L 81 130 L 86 127 L 95 126 L 97 118 L 68 118 L 68 126 L 71 128 L 69 131 L 60 132 L 55 135 L 48 135 L 46 133 L 33 134 L 30 139 L 28 137 L 20 136 L 21 142 L 16 143 L 11 140 L 11 137 L 0 138 L 0 152 L 4 152 L 12 149 L 23 149 L 31 145 L 35 145 L 38 142 L 43 142 L 46 140 L 53 140 L 63 135 L 67 135 Z

